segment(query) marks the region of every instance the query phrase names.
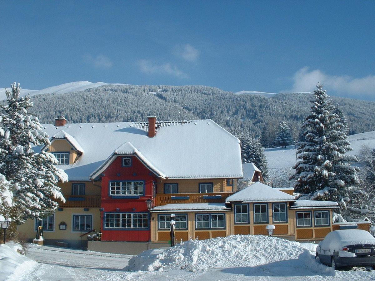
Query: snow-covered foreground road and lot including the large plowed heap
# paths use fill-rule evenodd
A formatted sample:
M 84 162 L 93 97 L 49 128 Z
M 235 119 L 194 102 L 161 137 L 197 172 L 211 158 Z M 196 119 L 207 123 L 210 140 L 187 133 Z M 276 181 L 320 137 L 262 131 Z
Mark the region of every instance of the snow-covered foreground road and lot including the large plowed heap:
M 188 241 L 134 257 L 31 244 L 26 256 L 38 264 L 20 268 L 10 280 L 375 279 L 373 270 L 335 271 L 322 265 L 314 258 L 316 246 L 269 236 L 233 235 Z

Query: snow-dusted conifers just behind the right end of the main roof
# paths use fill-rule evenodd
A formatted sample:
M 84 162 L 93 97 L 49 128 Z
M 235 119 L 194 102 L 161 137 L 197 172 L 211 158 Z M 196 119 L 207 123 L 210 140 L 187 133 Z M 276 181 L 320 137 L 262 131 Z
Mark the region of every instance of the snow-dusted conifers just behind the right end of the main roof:
M 247 134 L 239 134 L 237 138 L 241 141 L 242 163 L 254 163 L 261 170 L 264 181 L 269 178 L 268 163 L 264 148 L 259 140 L 251 138 Z

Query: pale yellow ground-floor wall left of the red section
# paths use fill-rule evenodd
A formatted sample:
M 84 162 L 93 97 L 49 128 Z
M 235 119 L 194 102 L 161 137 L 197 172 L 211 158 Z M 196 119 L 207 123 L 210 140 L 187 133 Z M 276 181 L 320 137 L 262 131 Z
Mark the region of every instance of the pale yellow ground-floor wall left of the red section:
M 73 231 L 73 215 L 92 215 L 92 229 L 100 232 L 101 218 L 99 208 L 92 208 L 84 211 L 83 208 L 63 208 L 63 211 L 55 211 L 54 213 L 54 230 L 43 230 L 44 239 L 54 240 L 87 240 L 87 236 L 80 238 L 80 235 L 87 231 Z M 66 230 L 60 230 L 58 224 L 66 223 Z M 21 237 L 34 239 L 36 236 L 35 229 L 36 220 L 29 219 L 24 224 L 17 227 Z

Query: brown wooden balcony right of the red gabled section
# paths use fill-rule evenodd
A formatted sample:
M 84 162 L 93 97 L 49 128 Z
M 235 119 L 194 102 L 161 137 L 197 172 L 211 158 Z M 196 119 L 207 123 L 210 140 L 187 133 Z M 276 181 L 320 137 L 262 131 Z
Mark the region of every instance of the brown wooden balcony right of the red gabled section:
M 180 203 L 224 203 L 234 192 L 156 194 L 155 206 Z

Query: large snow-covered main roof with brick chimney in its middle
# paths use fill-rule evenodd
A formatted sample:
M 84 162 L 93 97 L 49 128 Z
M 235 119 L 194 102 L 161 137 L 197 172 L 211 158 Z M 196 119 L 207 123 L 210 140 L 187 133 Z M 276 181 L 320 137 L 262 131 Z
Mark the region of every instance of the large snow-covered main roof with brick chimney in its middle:
M 43 129 L 50 136 L 61 136 L 63 130 L 84 149 L 74 164 L 58 165 L 71 181 L 89 180 L 111 157 L 121 154 L 136 155 L 169 179 L 242 178 L 240 141 L 214 121 L 168 121 L 156 126 L 153 138 L 148 138 L 145 123 L 133 122 L 48 124 Z

